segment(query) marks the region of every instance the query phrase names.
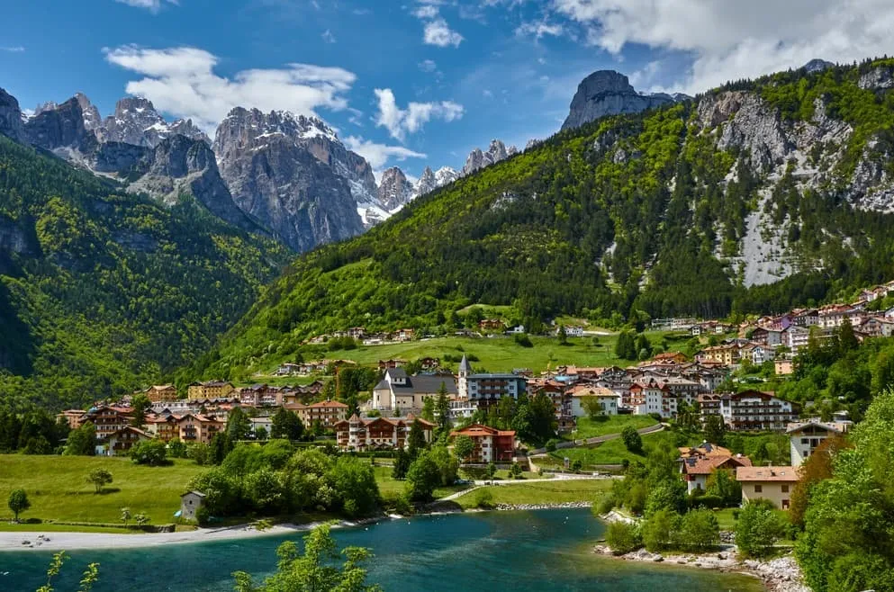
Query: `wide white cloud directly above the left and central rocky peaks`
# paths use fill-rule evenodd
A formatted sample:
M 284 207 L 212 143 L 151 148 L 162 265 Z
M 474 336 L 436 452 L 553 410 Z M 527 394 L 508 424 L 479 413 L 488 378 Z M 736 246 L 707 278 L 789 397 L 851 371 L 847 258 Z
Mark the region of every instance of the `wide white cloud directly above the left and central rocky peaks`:
M 160 111 L 190 118 L 210 133 L 236 106 L 305 114 L 346 109 L 344 94 L 357 79 L 340 67 L 311 64 L 242 70 L 228 78 L 214 73 L 216 56 L 190 47 L 122 46 L 104 53 L 110 63 L 145 76 L 127 84 L 128 94 L 146 97 Z

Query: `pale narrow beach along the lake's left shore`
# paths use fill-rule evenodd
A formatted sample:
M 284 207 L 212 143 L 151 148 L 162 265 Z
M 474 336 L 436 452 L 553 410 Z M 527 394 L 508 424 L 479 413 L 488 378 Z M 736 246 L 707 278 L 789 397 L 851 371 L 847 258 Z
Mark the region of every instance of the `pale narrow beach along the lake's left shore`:
M 306 525 L 275 525 L 259 531 L 252 525 L 226 528 L 200 528 L 184 533 L 0 533 L 0 552 L 4 551 L 71 551 L 75 549 L 129 549 L 153 547 L 159 544 L 207 543 L 230 539 L 248 539 L 303 533 L 323 523 Z M 341 526 L 355 523 L 339 523 Z

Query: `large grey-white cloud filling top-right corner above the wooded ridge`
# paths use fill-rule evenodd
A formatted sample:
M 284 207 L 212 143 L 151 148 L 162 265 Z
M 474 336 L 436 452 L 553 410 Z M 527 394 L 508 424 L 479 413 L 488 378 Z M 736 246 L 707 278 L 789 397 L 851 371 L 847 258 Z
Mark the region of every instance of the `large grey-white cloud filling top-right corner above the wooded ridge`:
M 676 87 L 703 91 L 727 80 L 800 67 L 812 58 L 849 62 L 890 51 L 889 0 L 552 0 L 591 45 L 628 43 L 692 56 Z

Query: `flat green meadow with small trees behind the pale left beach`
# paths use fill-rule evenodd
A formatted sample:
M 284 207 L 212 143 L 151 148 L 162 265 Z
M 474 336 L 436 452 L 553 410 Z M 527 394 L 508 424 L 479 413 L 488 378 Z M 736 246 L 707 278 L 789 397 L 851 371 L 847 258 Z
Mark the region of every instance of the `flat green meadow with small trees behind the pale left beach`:
M 145 467 L 126 458 L 91 456 L 0 455 L 0 512 L 12 517 L 5 499 L 13 489 L 24 489 L 31 508 L 22 519 L 40 518 L 44 522 L 120 522 L 121 508 L 130 507 L 131 515 L 145 514 L 150 524 L 167 524 L 180 509 L 180 494 L 186 483 L 206 471 L 192 461 L 175 461 L 168 467 Z M 112 473 L 113 483 L 96 494 L 86 482 L 87 473 L 102 467 Z M 27 525 L 23 525 L 27 526 Z M 43 529 L 42 525 L 32 525 Z M 74 530 L 84 530 L 77 527 Z

